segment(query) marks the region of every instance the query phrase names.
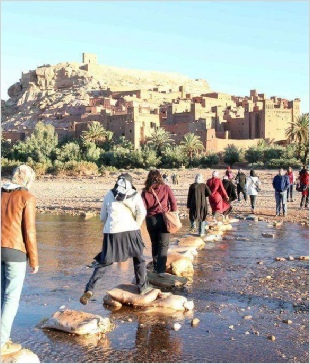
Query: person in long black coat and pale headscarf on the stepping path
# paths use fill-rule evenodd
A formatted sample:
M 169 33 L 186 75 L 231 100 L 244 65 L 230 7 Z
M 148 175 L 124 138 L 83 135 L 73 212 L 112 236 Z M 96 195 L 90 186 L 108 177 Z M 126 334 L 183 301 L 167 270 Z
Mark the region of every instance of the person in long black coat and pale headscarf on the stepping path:
M 203 182 L 203 176 L 198 173 L 195 182 L 189 186 L 187 194 L 187 208 L 189 209 L 190 231 L 196 229 L 198 221 L 198 234 L 205 234 L 206 217 L 208 214 L 207 197 L 211 195 L 210 188 Z

